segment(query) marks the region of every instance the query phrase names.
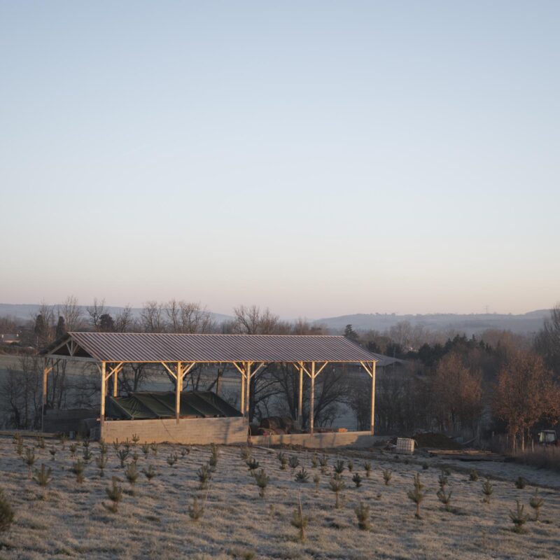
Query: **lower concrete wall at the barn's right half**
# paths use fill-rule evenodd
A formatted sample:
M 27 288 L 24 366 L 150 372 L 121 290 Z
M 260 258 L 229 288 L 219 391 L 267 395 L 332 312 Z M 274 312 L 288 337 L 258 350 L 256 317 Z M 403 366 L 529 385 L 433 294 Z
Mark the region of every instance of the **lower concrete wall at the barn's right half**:
M 371 447 L 375 441 L 384 439 L 371 432 L 333 433 L 287 433 L 279 435 L 252 435 L 253 445 L 301 445 L 310 449 L 330 449 L 332 447 Z

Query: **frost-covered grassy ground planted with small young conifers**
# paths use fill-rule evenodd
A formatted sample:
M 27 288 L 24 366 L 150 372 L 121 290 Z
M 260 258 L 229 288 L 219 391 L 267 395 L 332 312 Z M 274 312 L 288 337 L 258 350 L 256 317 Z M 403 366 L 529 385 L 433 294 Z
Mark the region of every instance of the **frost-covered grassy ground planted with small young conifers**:
M 48 452 L 54 443 L 59 451 L 54 461 Z M 36 440 L 26 439 L 25 447 Z M 92 443 L 94 456 L 99 444 Z M 140 448 L 138 467 L 153 465 L 158 476 L 151 483 L 141 475 L 134 496 L 125 493 L 119 511 L 113 514 L 103 503 L 109 503 L 105 489 L 111 477 L 117 476 L 125 492 L 130 486 L 119 466 L 116 451 L 109 446 L 109 465 L 105 477 L 99 477 L 94 459 L 85 469 L 85 482 L 78 484 L 70 471 L 73 459 L 69 443 L 62 445 L 47 440 L 46 449 L 35 449 L 37 462 L 52 468 L 52 482 L 47 498 L 41 500 L 41 489 L 27 476 L 27 465 L 16 454 L 9 437 L 0 437 L 0 486 L 15 510 L 15 521 L 8 533 L 0 534 L 1 559 L 44 559 L 83 557 L 88 559 L 442 559 L 457 558 L 558 558 L 560 556 L 560 487 L 559 475 L 547 473 L 546 488 L 539 493 L 545 500 L 541 521 L 528 522 L 527 532 L 511 531 L 508 512 L 520 500 L 526 507 L 535 491 L 528 485 L 516 489 L 513 481 L 519 474 L 539 483 L 536 470 L 519 468 L 510 463 L 477 465 L 480 472 L 496 469 L 491 503 L 482 503 L 482 477 L 470 482 L 462 472 L 471 465 L 451 466 L 449 489 L 453 491 L 455 512 L 446 512 L 435 493 L 439 465 L 451 463 L 430 458 L 405 458 L 395 461 L 382 451 L 340 452 L 329 454 L 330 472 L 337 458 L 351 458 L 354 470 L 363 475 L 363 486 L 354 487 L 351 473 L 343 477 L 346 489 L 340 509 L 335 509 L 335 494 L 328 487 L 329 475 L 321 476 L 320 490 L 315 494 L 311 452 L 289 451 L 297 455 L 310 472 L 307 484 L 298 484 L 290 468 L 279 469 L 277 450 L 251 449 L 270 476 L 264 499 L 248 474 L 239 447 L 220 447 L 218 467 L 207 496 L 206 510 L 199 521 L 188 515 L 199 490 L 197 470 L 207 462 L 209 447 L 191 447 L 190 454 L 169 466 L 167 457 L 181 448 L 160 444 L 158 454 L 144 457 Z M 81 451 L 81 449 L 79 449 Z M 372 477 L 366 478 L 363 460 L 372 461 Z M 426 462 L 428 469 L 421 463 Z M 382 469 L 391 469 L 389 486 L 384 485 Z M 458 468 L 458 470 L 454 470 Z M 426 484 L 426 498 L 421 507 L 423 519 L 414 518 L 414 504 L 406 492 L 412 488 L 412 477 L 420 472 Z M 534 475 L 534 476 L 532 476 Z M 498 479 L 498 476 L 500 479 Z M 554 488 L 555 486 L 555 488 Z M 296 540 L 297 530 L 290 519 L 300 492 L 304 514 L 309 516 L 307 540 Z M 360 531 L 354 507 L 359 500 L 370 505 L 372 528 Z M 533 514 L 532 510 L 530 511 Z

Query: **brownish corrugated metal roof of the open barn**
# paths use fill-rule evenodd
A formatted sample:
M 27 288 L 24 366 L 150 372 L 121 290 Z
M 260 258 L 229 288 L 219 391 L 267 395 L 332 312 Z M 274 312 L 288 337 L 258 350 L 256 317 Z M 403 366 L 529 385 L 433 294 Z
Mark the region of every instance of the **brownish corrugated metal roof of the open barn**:
M 66 337 L 92 358 L 106 362 L 377 361 L 374 354 L 342 336 L 69 332 Z M 66 346 L 55 350 L 62 342 L 51 344 L 43 355 L 64 355 Z

